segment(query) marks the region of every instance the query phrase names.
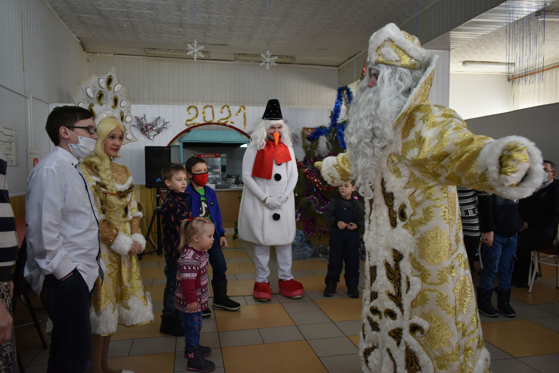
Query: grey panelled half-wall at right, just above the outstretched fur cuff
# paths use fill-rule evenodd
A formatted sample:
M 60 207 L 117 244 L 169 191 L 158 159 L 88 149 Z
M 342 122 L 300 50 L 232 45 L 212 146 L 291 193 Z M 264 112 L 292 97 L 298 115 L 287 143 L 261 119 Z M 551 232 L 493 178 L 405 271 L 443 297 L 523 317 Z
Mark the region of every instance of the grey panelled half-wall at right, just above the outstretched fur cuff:
M 543 158 L 559 162 L 559 126 L 557 113 L 559 103 L 534 106 L 496 115 L 473 118 L 468 128 L 476 135 L 499 139 L 504 136 L 524 136 L 536 143 Z

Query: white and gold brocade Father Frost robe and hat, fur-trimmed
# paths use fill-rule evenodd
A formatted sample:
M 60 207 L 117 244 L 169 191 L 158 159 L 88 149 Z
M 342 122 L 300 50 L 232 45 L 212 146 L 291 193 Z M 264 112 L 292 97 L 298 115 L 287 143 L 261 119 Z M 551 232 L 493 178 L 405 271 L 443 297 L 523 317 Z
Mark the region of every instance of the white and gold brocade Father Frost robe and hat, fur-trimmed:
M 365 372 L 489 372 L 455 186 L 515 199 L 541 184 L 541 153 L 528 139 L 473 135 L 456 112 L 428 101 L 437 58 L 393 23 L 375 32 L 367 70 L 380 71 L 379 87 L 363 82 L 363 91 L 390 86 L 394 75 L 383 81 L 383 71 L 418 70 L 417 84 L 382 129 L 359 121 L 354 101 L 348 153 L 317 165 L 332 185 L 356 178 L 367 199 Z

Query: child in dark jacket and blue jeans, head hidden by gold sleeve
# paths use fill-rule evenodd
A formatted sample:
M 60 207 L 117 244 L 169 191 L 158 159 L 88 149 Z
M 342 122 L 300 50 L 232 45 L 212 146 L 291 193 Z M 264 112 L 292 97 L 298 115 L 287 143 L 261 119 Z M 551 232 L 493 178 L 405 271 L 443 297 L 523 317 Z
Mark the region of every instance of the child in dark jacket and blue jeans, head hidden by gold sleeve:
M 499 312 L 491 305 L 493 277 L 498 275 L 495 287 L 497 308 L 506 317 L 516 317 L 510 306 L 510 282 L 513 277 L 514 255 L 517 252 L 517 232 L 524 225 L 518 213 L 518 200 L 504 199 L 495 194 L 479 199 L 480 204 L 491 205 L 492 216 L 482 222 L 482 247 L 480 285 L 477 287 L 477 308 L 487 317 L 498 317 Z

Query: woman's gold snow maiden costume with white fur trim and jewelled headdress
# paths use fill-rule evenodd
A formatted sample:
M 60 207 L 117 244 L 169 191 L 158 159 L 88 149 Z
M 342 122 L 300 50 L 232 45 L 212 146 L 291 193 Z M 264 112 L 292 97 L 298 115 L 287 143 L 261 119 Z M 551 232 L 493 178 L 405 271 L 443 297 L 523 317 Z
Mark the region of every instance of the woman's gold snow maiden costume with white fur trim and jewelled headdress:
M 104 336 L 115 333 L 117 325 L 141 325 L 154 317 L 138 258 L 129 252 L 134 241 L 142 249 L 146 243 L 139 227 L 143 214 L 134 196 L 134 182 L 129 169 L 112 162 L 103 150 L 103 141 L 116 128 L 122 130 L 123 145 L 136 141 L 125 128 L 131 121 L 130 102 L 114 67 L 94 77 L 80 83 L 74 102 L 96 114 L 99 135 L 95 152 L 80 167 L 93 191 L 100 223 L 101 260 L 107 267 L 103 281 L 97 280 L 91 306 L 92 333 Z

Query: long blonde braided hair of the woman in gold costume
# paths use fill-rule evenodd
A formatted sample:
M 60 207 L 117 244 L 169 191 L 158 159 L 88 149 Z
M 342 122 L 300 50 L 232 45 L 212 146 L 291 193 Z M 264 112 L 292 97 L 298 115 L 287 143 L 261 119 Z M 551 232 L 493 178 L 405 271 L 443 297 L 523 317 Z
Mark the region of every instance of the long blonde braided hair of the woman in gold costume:
M 97 126 L 97 134 L 99 140 L 95 145 L 95 152 L 83 160 L 84 166 L 97 173 L 101 179 L 101 183 L 107 188 L 107 192 L 118 192 L 115 182 L 111 175 L 111 158 L 103 150 L 103 143 L 105 139 L 115 128 L 120 127 L 124 134 L 125 129 L 121 122 L 116 118 L 103 119 Z M 101 141 L 101 139 L 103 139 Z M 122 228 L 122 215 L 124 214 L 125 207 L 129 204 L 122 201 L 119 197 L 110 194 L 101 193 L 99 196 L 101 206 L 105 207 L 106 222 L 114 228 L 120 230 Z

